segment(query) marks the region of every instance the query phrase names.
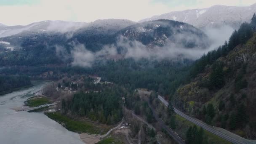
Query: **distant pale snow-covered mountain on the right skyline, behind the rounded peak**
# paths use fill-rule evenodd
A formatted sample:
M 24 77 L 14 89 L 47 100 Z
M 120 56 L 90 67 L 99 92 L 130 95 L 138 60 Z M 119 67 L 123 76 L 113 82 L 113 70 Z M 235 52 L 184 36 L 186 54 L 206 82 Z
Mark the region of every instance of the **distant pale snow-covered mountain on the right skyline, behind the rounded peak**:
M 152 16 L 139 22 L 169 19 L 182 21 L 197 28 L 229 25 L 237 29 L 244 21 L 249 22 L 253 13 L 256 13 L 256 3 L 247 7 L 214 5 L 210 8 L 173 11 L 160 16 Z

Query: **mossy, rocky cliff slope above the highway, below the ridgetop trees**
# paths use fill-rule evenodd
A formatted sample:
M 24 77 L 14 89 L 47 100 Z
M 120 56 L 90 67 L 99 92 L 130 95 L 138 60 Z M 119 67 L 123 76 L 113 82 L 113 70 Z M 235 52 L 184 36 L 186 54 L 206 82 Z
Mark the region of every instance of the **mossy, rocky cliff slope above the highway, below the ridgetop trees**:
M 209 81 L 213 67 L 208 65 L 204 73 L 197 75 L 191 83 L 176 91 L 176 107 L 206 121 L 205 115 L 202 114 L 203 107 L 213 104 L 216 115 L 212 118 L 212 125 L 227 128 L 248 139 L 255 139 L 256 111 L 253 109 L 256 104 L 256 33 L 247 43 L 238 45 L 216 62 L 223 64 L 225 85 L 221 89 L 211 89 L 204 85 Z M 246 124 L 232 129 L 230 117 L 233 113 L 236 114 L 235 117 L 239 117 L 237 112 L 243 111 L 240 109 L 241 105 L 245 106 L 243 113 Z M 224 115 L 227 116 L 226 123 L 221 119 Z

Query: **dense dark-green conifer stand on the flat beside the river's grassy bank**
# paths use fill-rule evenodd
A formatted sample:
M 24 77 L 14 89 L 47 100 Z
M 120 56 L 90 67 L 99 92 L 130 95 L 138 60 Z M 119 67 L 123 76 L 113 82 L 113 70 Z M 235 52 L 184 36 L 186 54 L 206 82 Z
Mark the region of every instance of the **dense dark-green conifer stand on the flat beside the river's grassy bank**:
M 98 85 L 99 91 L 76 93 L 71 98 L 61 101 L 63 115 L 88 117 L 93 121 L 99 121 L 107 125 L 116 124 L 123 117 L 122 96 L 125 89 L 117 85 Z M 90 87 L 90 86 L 89 86 Z M 97 87 L 91 83 L 91 87 Z M 88 87 L 86 87 L 88 88 Z

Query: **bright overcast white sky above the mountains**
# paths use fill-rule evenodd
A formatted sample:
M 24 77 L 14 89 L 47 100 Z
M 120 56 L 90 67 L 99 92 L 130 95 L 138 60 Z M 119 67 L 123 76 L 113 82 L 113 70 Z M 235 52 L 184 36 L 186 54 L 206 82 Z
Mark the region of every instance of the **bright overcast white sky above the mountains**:
M 256 0 L 0 0 L 0 23 L 11 26 L 44 20 L 91 22 L 111 18 L 139 21 L 171 11 L 253 3 Z

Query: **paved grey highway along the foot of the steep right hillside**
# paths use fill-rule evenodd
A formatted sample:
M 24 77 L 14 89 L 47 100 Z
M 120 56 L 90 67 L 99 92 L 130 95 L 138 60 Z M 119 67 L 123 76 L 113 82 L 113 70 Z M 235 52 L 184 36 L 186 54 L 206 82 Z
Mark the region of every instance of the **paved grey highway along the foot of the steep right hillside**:
M 160 101 L 162 101 L 166 106 L 168 106 L 168 102 L 165 101 L 165 99 L 163 99 L 162 96 L 158 95 L 158 99 L 160 99 Z M 232 138 L 230 136 L 227 136 L 224 133 L 221 133 L 221 132 L 217 131 L 216 129 L 212 128 L 211 126 L 208 126 L 208 125 L 206 125 L 205 123 L 203 123 L 203 122 L 201 122 L 199 120 L 196 120 L 196 119 L 194 119 L 192 117 L 189 117 L 188 115 L 185 115 L 183 112 L 179 111 L 178 109 L 174 108 L 174 112 L 176 112 L 176 114 L 180 115 L 181 117 L 184 117 L 185 119 L 189 120 L 190 122 L 195 123 L 196 125 L 204 128 L 205 130 L 210 131 L 211 133 L 214 133 L 217 136 L 220 136 L 221 138 L 226 139 L 227 141 L 230 141 L 230 142 L 232 142 L 234 144 L 256 144 L 253 141 L 252 142 L 240 141 L 240 140 L 234 139 L 234 138 Z

